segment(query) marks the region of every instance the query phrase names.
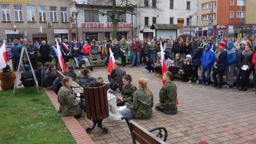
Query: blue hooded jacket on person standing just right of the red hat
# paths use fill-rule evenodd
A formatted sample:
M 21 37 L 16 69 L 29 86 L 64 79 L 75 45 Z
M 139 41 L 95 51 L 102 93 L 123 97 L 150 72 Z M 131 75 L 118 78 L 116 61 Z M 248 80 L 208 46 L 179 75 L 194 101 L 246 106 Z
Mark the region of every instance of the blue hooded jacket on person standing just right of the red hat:
M 235 61 L 237 60 L 237 54 L 236 54 L 236 50 L 233 47 L 234 46 L 234 42 L 232 41 L 228 41 L 229 47 L 228 47 L 228 56 L 226 58 L 225 61 L 225 66 L 232 66 L 235 64 Z

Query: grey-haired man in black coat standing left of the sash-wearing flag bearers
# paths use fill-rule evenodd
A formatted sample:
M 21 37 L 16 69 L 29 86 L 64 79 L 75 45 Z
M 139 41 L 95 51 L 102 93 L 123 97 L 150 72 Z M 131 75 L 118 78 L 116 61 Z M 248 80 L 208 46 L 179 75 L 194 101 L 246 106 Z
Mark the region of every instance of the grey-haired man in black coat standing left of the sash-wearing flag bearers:
M 51 53 L 51 48 L 46 44 L 46 41 L 42 41 L 42 45 L 39 46 L 39 53 L 41 54 L 41 62 L 43 65 L 49 62 L 49 54 Z

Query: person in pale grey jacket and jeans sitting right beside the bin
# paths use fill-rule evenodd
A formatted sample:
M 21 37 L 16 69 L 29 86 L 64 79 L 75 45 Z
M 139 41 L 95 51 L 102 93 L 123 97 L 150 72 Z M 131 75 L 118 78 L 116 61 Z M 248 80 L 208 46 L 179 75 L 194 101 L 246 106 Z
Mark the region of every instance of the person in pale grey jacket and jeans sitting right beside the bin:
M 110 89 L 108 90 L 108 104 L 109 104 L 109 117 L 105 118 L 103 122 L 124 122 L 121 117 L 131 118 L 131 110 L 125 108 L 118 110 L 117 97 L 119 97 L 119 88 L 117 82 L 110 83 Z

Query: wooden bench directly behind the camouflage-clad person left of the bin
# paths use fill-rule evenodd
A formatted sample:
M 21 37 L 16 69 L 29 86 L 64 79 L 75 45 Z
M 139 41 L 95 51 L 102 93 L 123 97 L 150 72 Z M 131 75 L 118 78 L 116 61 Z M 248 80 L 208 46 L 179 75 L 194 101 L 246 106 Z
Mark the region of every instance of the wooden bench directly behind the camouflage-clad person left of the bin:
M 62 74 L 60 71 L 56 71 L 57 72 L 57 74 L 58 74 L 58 78 L 59 78 L 59 80 L 60 80 L 60 83 L 63 85 L 63 82 L 62 82 L 62 80 L 63 80 L 63 78 L 65 77 L 65 76 L 70 76 L 70 77 L 73 77 L 73 75 L 71 75 L 71 74 L 69 74 L 69 75 L 64 75 L 64 74 Z M 76 83 L 76 82 L 74 82 L 73 81 L 73 85 L 72 85 L 72 90 L 73 90 L 73 92 L 74 92 L 74 94 L 75 94 L 75 96 L 78 94 L 78 93 L 80 93 L 81 95 L 83 95 L 83 87 L 84 85 L 79 85 L 78 83 Z

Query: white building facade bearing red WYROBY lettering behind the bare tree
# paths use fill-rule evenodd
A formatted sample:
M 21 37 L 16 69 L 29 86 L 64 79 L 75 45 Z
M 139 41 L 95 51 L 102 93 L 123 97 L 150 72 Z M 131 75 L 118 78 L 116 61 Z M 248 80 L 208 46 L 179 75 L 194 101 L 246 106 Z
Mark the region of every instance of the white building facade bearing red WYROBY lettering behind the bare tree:
M 91 4 L 94 4 L 91 2 Z M 104 37 L 112 37 L 113 24 L 110 16 L 102 15 L 97 12 L 97 10 L 102 13 L 112 13 L 111 6 L 102 5 L 85 5 L 85 4 L 73 4 L 70 5 L 70 13 L 72 14 L 73 21 L 71 23 L 71 30 L 76 31 L 76 20 L 75 13 L 77 15 L 77 31 L 78 37 L 85 37 L 86 40 L 91 41 L 93 38 L 97 41 L 102 41 Z M 132 20 L 133 18 L 133 20 Z M 72 18 L 71 18 L 72 19 Z M 117 25 L 118 36 L 132 37 L 132 30 L 136 31 L 136 17 L 131 14 L 122 14 L 120 16 L 120 21 Z

